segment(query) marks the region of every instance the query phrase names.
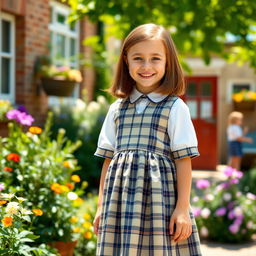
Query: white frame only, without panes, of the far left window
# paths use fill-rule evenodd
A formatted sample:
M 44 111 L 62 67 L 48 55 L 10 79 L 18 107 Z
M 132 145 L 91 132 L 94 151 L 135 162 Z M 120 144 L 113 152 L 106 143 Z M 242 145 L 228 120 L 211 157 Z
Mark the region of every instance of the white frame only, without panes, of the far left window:
M 0 22 L 6 20 L 10 22 L 10 35 L 11 35 L 11 46 L 10 53 L 2 52 L 2 40 L 0 40 L 0 67 L 2 67 L 2 57 L 10 59 L 10 93 L 2 94 L 0 91 L 0 98 L 3 100 L 9 100 L 11 103 L 15 103 L 15 17 L 13 15 L 0 12 Z M 0 24 L 1 24 L 0 23 Z M 2 35 L 2 25 L 0 25 L 0 35 Z M 0 77 L 2 70 L 0 69 Z M 1 80 L 0 80 L 1 83 Z

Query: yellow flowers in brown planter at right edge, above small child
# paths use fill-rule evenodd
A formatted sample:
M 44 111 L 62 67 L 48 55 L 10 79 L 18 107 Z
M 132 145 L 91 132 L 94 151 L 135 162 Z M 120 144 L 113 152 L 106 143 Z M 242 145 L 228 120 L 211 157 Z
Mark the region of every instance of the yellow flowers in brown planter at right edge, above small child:
M 256 92 L 241 90 L 232 95 L 233 106 L 238 111 L 253 111 L 256 103 Z

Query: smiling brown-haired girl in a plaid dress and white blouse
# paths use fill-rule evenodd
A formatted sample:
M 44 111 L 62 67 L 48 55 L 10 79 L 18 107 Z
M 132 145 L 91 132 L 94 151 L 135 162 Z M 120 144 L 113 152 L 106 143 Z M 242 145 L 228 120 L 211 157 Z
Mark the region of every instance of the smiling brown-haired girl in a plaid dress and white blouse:
M 95 155 L 104 157 L 94 232 L 98 256 L 200 256 L 191 213 L 197 139 L 178 98 L 184 77 L 169 33 L 145 24 L 125 39 Z

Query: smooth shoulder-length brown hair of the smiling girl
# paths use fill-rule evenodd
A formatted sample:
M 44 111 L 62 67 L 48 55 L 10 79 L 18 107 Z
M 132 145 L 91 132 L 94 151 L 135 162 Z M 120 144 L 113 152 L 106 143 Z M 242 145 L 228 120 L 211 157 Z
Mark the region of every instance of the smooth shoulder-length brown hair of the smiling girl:
M 157 92 L 177 96 L 184 94 L 184 75 L 178 61 L 177 51 L 172 38 L 162 26 L 144 24 L 132 30 L 124 40 L 117 64 L 115 79 L 113 85 L 108 90 L 113 96 L 125 98 L 131 94 L 135 85 L 135 81 L 130 76 L 128 66 L 125 62 L 127 51 L 137 43 L 154 39 L 162 40 L 166 50 L 165 75 L 162 78 Z

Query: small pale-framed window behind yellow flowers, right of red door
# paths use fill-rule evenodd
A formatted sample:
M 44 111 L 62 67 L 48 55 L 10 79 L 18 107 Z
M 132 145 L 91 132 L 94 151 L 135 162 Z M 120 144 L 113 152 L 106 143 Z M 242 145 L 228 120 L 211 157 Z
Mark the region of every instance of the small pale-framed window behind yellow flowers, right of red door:
M 232 101 L 232 94 L 239 92 L 241 90 L 255 90 L 255 85 L 253 80 L 249 79 L 237 79 L 231 80 L 228 83 L 228 94 L 227 94 L 227 101 L 230 103 Z

